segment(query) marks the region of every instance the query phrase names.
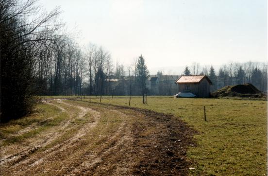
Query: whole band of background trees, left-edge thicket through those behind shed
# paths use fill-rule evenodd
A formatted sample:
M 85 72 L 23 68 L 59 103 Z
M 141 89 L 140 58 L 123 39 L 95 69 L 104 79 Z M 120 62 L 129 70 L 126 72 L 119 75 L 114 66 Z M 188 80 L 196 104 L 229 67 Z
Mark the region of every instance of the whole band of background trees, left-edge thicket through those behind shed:
M 128 67 L 113 65 L 111 53 L 104 47 L 81 47 L 66 32 L 59 14 L 58 8 L 43 11 L 36 0 L 0 1 L 1 118 L 30 112 L 36 101 L 33 95 L 150 94 L 141 84 L 138 58 Z M 148 79 L 146 69 L 144 76 Z M 193 63 L 187 69 L 183 74 L 208 75 L 215 89 L 252 83 L 267 91 L 267 63 L 232 62 L 218 71 Z M 159 94 L 172 94 L 170 84 L 175 80 L 161 71 L 156 76 L 160 80 Z

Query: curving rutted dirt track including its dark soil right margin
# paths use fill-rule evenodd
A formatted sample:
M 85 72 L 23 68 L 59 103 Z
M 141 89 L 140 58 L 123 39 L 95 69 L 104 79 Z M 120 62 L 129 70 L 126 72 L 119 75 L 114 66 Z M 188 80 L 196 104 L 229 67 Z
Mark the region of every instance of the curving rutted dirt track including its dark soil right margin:
M 1 175 L 186 175 L 194 131 L 172 115 L 62 99 L 65 118 L 1 149 Z M 47 117 L 47 123 L 55 117 Z M 88 120 L 87 120 L 88 119 Z M 22 135 L 37 123 L 18 131 Z M 9 136 L 12 138 L 12 135 Z

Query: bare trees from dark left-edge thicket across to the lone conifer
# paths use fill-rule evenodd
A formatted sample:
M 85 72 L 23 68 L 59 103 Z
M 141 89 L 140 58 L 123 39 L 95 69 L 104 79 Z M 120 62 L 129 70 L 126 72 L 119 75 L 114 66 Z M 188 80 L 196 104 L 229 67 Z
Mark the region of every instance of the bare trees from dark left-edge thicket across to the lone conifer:
M 35 95 L 117 94 L 121 90 L 110 80 L 125 82 L 123 66 L 117 65 L 114 74 L 107 50 L 79 46 L 58 20 L 59 8 L 46 12 L 37 2 L 0 1 L 1 122 L 31 112 Z M 149 71 L 142 55 L 134 70 L 133 88 L 144 95 Z

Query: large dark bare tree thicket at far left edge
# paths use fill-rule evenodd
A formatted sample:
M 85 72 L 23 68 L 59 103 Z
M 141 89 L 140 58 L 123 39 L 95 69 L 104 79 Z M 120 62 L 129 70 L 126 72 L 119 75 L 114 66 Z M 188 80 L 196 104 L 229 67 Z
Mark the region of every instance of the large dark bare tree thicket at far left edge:
M 31 111 L 35 93 L 38 59 L 44 58 L 44 47 L 54 41 L 59 14 L 42 11 L 35 0 L 0 1 L 1 118 L 21 117 Z M 31 20 L 30 20 L 31 19 Z M 45 67 L 39 65 L 39 75 Z

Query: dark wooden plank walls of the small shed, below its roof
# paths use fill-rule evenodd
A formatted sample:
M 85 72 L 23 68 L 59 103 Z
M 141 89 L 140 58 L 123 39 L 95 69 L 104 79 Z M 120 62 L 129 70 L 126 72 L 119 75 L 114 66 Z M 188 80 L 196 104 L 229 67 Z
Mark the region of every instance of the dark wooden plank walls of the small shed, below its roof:
M 189 87 L 186 90 L 186 86 Z M 210 84 L 206 79 L 203 79 L 200 83 L 181 83 L 179 84 L 179 92 L 191 92 L 198 97 L 209 97 Z

